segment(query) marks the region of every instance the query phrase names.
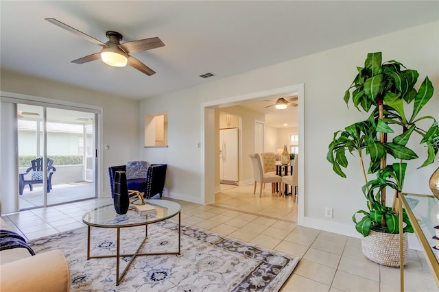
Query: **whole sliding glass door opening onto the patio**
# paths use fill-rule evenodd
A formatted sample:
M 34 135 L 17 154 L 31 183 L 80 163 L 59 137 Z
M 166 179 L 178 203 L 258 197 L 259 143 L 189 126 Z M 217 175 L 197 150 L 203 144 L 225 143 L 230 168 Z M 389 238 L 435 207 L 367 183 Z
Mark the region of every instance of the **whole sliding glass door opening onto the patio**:
M 19 182 L 21 210 L 97 197 L 96 117 L 93 112 L 17 104 L 19 177 L 30 182 Z M 29 170 L 38 158 L 44 166 Z

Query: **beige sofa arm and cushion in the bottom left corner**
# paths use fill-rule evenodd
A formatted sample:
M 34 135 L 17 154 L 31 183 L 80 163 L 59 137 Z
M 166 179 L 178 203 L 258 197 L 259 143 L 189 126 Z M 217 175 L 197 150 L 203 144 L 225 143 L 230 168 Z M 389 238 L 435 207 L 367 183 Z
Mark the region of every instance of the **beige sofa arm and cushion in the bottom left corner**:
M 10 229 L 3 219 L 0 220 L 1 229 Z M 69 265 L 60 250 L 36 256 L 31 256 L 22 247 L 0 251 L 0 291 L 69 290 Z

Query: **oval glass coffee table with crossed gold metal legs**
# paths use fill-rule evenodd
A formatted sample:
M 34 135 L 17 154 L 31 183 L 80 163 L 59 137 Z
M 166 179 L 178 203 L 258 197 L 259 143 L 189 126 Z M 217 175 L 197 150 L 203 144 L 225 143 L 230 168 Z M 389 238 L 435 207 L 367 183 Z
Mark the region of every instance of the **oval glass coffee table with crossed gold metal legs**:
M 156 207 L 156 212 L 152 212 L 148 215 L 140 215 L 135 210 L 128 210 L 126 214 L 119 215 L 115 211 L 115 206 L 107 205 L 99 208 L 95 208 L 86 212 L 84 217 L 82 217 L 82 222 L 84 222 L 88 228 L 87 232 L 87 260 L 91 258 L 116 258 L 116 285 L 119 285 L 119 282 L 125 275 L 128 267 L 130 267 L 132 261 L 136 256 L 152 256 L 158 254 L 180 254 L 180 234 L 181 234 L 181 216 L 180 204 L 176 202 L 171 202 L 162 199 L 146 199 L 146 204 L 151 204 Z M 159 221 L 163 221 L 178 215 L 178 251 L 176 252 L 150 252 L 150 253 L 139 253 L 145 241 L 147 240 L 148 235 L 148 225 L 152 223 L 156 223 Z M 90 255 L 90 229 L 91 227 L 97 228 L 117 228 L 117 252 L 116 254 L 104 255 L 104 256 L 91 256 Z M 120 254 L 120 235 L 121 228 L 134 227 L 134 226 L 145 226 L 145 238 L 137 248 L 137 251 L 134 254 Z M 119 260 L 121 256 L 131 256 L 131 260 L 126 266 L 126 268 L 121 273 L 119 277 Z

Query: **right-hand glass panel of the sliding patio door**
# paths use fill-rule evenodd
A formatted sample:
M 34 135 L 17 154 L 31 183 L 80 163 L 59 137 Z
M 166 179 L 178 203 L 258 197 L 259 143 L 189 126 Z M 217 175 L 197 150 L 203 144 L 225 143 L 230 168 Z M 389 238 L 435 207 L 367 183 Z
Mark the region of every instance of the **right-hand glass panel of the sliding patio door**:
M 54 160 L 47 204 L 95 197 L 95 114 L 47 108 L 47 158 Z

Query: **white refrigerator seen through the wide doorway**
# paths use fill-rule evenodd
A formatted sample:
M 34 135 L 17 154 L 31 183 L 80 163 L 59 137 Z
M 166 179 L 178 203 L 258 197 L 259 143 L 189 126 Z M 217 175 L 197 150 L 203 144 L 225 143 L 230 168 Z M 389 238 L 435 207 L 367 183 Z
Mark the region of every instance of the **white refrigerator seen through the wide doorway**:
M 219 182 L 238 185 L 238 128 L 219 130 Z

